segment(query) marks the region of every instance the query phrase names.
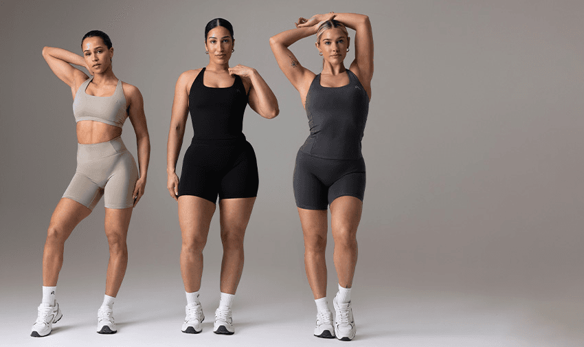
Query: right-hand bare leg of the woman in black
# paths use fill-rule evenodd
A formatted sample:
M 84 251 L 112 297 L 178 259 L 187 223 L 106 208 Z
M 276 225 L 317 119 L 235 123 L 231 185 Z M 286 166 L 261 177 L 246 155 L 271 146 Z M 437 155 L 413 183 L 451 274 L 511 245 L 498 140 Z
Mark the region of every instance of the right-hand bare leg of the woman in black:
M 243 271 L 243 236 L 255 202 L 255 197 L 219 201 L 223 243 L 219 288 L 222 293 L 235 294 L 237 290 Z

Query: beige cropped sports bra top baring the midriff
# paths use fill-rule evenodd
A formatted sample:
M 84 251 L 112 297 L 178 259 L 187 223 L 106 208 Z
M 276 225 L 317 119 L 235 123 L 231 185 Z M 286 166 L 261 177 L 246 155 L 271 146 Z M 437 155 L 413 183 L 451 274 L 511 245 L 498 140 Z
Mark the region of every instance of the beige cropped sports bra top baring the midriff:
M 95 120 L 122 128 L 128 113 L 126 112 L 126 97 L 122 88 L 122 80 L 117 80 L 112 96 L 90 96 L 85 92 L 93 76 L 82 83 L 73 100 L 75 121 Z

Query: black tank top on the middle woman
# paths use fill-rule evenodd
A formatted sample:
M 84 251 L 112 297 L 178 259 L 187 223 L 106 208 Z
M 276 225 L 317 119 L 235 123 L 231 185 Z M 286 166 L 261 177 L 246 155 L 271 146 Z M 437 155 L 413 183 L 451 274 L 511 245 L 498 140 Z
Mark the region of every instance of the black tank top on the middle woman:
M 241 78 L 236 75 L 231 87 L 212 88 L 203 85 L 203 74 L 205 67 L 192 82 L 188 96 L 192 139 L 245 139 L 241 130 L 247 94 Z

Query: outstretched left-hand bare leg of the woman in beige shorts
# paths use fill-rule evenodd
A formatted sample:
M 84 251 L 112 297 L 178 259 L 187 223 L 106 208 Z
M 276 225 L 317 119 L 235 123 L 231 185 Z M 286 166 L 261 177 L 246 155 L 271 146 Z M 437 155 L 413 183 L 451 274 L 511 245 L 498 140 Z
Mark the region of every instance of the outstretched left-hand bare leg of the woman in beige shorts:
M 77 201 L 60 199 L 47 230 L 45 251 L 43 252 L 43 286 L 57 285 L 59 271 L 63 267 L 65 240 L 80 221 L 91 214 L 91 210 Z

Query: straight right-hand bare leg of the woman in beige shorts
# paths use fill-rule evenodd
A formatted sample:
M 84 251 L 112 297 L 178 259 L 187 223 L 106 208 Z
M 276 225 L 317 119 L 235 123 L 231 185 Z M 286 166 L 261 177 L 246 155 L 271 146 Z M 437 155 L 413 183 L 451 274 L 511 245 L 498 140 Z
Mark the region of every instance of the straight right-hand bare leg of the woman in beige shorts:
M 133 208 L 105 209 L 105 234 L 109 244 L 109 262 L 105 282 L 106 295 L 115 296 L 120 290 L 128 265 L 128 226 Z

